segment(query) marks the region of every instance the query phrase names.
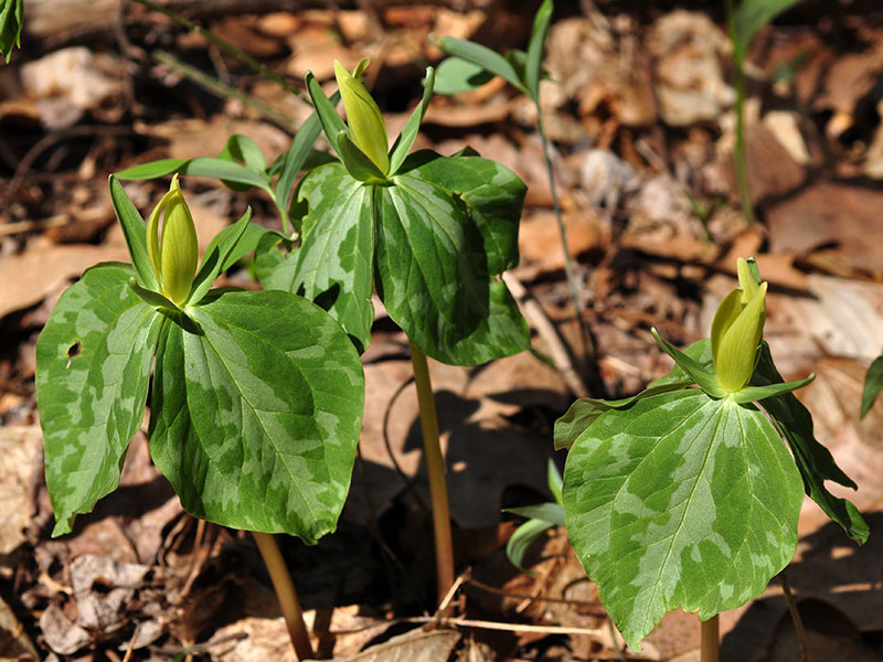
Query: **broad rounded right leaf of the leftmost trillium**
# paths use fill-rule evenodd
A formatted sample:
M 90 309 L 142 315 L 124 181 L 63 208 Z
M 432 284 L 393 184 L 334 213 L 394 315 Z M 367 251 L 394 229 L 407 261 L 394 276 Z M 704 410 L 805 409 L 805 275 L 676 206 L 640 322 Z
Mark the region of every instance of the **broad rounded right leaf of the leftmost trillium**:
M 281 291 L 214 292 L 157 351 L 153 461 L 184 509 L 226 526 L 334 530 L 350 484 L 364 382 L 349 338 Z

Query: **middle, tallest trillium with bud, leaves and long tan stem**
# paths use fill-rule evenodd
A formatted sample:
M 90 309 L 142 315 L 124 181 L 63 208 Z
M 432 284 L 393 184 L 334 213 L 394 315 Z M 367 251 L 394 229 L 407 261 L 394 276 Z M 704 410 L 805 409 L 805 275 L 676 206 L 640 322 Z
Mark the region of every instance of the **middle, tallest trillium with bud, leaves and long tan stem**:
M 336 62 L 339 93 L 331 99 L 307 74 L 316 113 L 269 168 L 251 140 L 233 137 L 216 159 L 156 161 L 119 177 L 181 172 L 263 189 L 285 232 L 253 237 L 262 286 L 318 303 L 360 352 L 371 342 L 376 292 L 411 341 L 444 595 L 454 583 L 454 554 L 426 356 L 474 365 L 530 346 L 528 325 L 500 279 L 518 264 L 526 188 L 506 167 L 468 149 L 453 157 L 411 153 L 433 95 L 432 67 L 421 103 L 390 148 L 381 110 L 360 79 L 369 63 L 349 72 Z M 345 122 L 334 109 L 338 98 Z M 311 150 L 320 130 L 337 158 Z M 307 174 L 291 191 L 301 168 Z

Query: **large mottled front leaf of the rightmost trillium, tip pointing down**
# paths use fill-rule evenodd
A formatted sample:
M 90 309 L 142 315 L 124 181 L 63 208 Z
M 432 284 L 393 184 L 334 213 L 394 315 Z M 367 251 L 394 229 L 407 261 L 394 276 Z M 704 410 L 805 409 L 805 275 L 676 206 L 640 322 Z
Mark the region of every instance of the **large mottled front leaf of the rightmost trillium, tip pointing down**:
M 567 532 L 628 644 L 677 607 L 702 619 L 791 558 L 800 474 L 756 408 L 698 389 L 603 414 L 564 472 Z

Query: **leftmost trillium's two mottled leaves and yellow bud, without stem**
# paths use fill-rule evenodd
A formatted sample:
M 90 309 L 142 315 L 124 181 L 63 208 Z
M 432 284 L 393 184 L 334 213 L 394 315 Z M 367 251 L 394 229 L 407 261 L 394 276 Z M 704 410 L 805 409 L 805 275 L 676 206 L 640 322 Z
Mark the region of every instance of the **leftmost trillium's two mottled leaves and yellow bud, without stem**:
M 150 452 L 188 512 L 315 543 L 337 525 L 355 453 L 352 343 L 300 297 L 211 289 L 247 250 L 251 211 L 196 269 L 177 179 L 147 225 L 113 177 L 110 196 L 132 264 L 87 270 L 36 345 L 53 534 L 116 489 L 150 392 Z

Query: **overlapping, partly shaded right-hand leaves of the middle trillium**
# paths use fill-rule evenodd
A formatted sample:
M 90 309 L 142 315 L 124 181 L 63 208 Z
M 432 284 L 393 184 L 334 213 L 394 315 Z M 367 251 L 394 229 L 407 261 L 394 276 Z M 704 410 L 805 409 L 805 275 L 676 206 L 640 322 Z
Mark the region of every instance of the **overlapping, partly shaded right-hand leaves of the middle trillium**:
M 411 167 L 408 167 L 411 164 Z M 494 278 L 518 261 L 524 184 L 478 157 L 417 152 L 377 186 L 377 293 L 414 344 L 475 365 L 528 349 L 526 323 Z

